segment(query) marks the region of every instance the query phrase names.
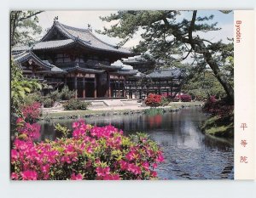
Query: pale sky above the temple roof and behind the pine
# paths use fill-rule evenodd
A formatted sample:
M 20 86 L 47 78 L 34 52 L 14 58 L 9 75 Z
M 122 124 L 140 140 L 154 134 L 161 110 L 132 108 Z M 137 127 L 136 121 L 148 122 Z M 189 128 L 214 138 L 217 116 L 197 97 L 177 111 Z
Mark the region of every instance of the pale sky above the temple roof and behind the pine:
M 42 14 L 38 14 L 39 25 L 43 27 L 43 34 L 45 30 L 49 28 L 54 21 L 55 16 L 58 16 L 59 21 L 65 25 L 71 25 L 73 27 L 79 28 L 87 28 L 87 24 L 90 24 L 94 33 L 95 30 L 102 30 L 103 26 L 109 27 L 111 23 L 100 20 L 99 16 L 107 16 L 109 14 L 115 13 L 116 11 L 45 11 Z M 212 11 L 213 12 L 213 11 Z M 219 12 L 218 12 L 219 13 Z M 222 28 L 221 31 L 209 31 L 207 33 L 200 33 L 200 35 L 211 41 L 218 41 L 219 39 L 223 39 L 226 41 L 226 37 L 233 37 L 233 21 L 230 19 L 227 21 L 227 14 L 218 14 L 216 11 L 213 14 L 217 15 L 219 26 Z M 211 14 L 211 11 L 210 11 Z M 108 42 L 110 44 L 117 44 L 119 42 L 119 38 L 107 37 L 105 35 L 96 34 L 96 37 L 101 38 L 104 42 Z M 134 37 L 131 41 L 126 42 L 126 48 L 131 48 L 135 46 L 139 41 L 140 37 Z

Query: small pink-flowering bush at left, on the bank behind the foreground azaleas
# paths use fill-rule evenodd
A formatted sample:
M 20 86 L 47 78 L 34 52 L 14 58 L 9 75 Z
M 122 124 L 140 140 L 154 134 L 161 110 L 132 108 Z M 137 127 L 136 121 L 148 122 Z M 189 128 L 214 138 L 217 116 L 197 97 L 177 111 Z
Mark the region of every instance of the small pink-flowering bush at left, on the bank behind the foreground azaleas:
M 40 107 L 41 104 L 38 102 L 34 102 L 31 105 L 24 105 L 21 108 L 21 112 L 25 121 L 30 123 L 37 122 L 41 114 Z

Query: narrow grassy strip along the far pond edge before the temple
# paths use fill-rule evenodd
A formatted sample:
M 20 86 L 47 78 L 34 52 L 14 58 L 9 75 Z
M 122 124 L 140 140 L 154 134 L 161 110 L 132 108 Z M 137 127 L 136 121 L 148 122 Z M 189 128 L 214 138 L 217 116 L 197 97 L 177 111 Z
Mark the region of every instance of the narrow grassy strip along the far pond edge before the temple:
M 201 105 L 201 102 L 180 102 L 180 103 L 170 103 L 167 106 L 160 107 L 167 110 L 178 110 L 184 106 L 195 106 Z M 60 112 L 44 112 L 41 119 L 61 119 L 61 118 L 73 118 L 73 117 L 86 117 L 86 116 L 111 116 L 111 115 L 125 115 L 132 113 L 140 113 L 145 110 L 144 108 L 139 110 L 62 110 Z

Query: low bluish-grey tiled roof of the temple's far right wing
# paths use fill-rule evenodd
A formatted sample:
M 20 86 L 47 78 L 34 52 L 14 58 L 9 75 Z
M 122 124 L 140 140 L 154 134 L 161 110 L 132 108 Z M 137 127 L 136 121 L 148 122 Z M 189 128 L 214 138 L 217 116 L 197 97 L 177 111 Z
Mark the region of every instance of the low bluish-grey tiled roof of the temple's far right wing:
M 151 78 L 178 78 L 178 77 L 183 77 L 183 71 L 177 68 L 172 68 L 172 69 L 160 69 L 151 72 L 148 74 L 149 77 Z

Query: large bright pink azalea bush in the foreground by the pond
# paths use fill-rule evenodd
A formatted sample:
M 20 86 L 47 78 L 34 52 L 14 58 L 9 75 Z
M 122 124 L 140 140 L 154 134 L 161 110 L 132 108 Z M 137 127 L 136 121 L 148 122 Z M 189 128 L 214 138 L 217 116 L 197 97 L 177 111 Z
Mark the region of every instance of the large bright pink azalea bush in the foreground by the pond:
M 92 127 L 80 120 L 73 123 L 72 138 L 40 143 L 32 142 L 40 128 L 21 120 L 17 128 L 11 150 L 15 180 L 154 179 L 164 161 L 160 147 L 145 134 L 125 137 L 111 125 Z

